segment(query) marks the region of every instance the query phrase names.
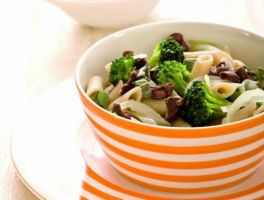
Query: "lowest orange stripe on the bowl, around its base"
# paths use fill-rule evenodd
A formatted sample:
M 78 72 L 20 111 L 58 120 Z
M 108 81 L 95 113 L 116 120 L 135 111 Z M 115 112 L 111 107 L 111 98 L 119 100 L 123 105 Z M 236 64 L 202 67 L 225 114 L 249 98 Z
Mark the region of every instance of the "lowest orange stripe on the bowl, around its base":
M 126 177 L 128 180 L 138 184 L 138 185 L 142 185 L 144 187 L 153 189 L 153 190 L 158 190 L 158 191 L 162 191 L 162 192 L 172 192 L 172 193 L 180 193 L 180 194 L 198 194 L 198 193 L 205 193 L 205 192 L 215 192 L 218 190 L 223 190 L 232 186 L 235 186 L 243 181 L 245 181 L 246 179 L 248 179 L 252 174 L 241 178 L 239 180 L 233 181 L 231 183 L 227 183 L 227 184 L 223 184 L 223 185 L 218 185 L 218 186 L 211 186 L 211 187 L 203 187 L 203 188 L 192 188 L 192 189 L 183 189 L 183 188 L 168 188 L 168 187 L 162 187 L 162 186 L 158 186 L 158 185 L 153 185 L 153 184 L 149 184 L 149 183 L 145 183 L 143 181 L 139 181 L 133 177 L 130 177 L 126 174 L 123 174 L 122 172 L 119 172 L 120 174 L 122 174 L 122 176 Z

